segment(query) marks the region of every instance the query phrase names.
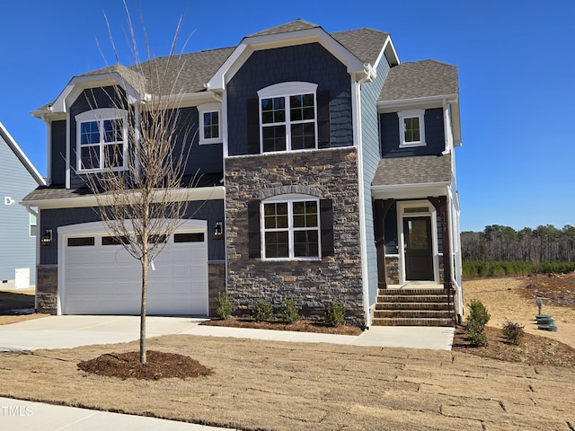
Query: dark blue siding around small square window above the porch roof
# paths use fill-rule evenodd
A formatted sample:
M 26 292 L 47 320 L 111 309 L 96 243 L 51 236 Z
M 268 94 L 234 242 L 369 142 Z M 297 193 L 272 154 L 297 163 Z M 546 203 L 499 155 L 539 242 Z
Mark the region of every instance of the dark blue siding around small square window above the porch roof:
M 441 154 L 445 150 L 443 109 L 425 110 L 425 146 L 400 148 L 399 117 L 396 112 L 380 115 L 383 157 L 407 157 L 412 155 Z

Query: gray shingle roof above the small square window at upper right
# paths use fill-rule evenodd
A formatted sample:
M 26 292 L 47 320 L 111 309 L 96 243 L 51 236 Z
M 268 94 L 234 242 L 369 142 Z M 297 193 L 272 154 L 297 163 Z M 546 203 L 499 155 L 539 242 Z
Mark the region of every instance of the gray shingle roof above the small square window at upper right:
M 422 60 L 394 66 L 389 71 L 379 101 L 457 94 L 457 66 Z

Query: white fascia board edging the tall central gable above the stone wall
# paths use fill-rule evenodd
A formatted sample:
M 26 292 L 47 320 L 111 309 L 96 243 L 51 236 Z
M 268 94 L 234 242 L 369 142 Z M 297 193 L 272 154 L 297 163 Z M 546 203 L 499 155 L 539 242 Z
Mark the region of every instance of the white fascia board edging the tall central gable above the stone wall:
M 234 49 L 232 55 L 227 58 L 226 62 L 209 80 L 207 88 L 215 92 L 224 91 L 226 89 L 226 83 L 232 79 L 254 51 L 291 47 L 314 42 L 320 43 L 323 48 L 326 48 L 334 57 L 338 58 L 341 63 L 347 66 L 349 74 L 363 73 L 365 65 L 358 57 L 355 57 L 347 48 L 344 48 L 338 41 L 334 40 L 329 33 L 316 27 L 303 31 L 290 31 L 287 33 L 244 38 L 238 47 Z

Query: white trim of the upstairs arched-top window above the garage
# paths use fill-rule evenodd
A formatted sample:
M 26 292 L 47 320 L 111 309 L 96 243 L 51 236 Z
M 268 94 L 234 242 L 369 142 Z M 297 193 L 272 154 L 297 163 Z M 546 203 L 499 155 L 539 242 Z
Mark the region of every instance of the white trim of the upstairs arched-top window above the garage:
M 83 112 L 81 114 L 78 114 L 75 116 L 75 133 L 76 133 L 76 139 L 75 139 L 75 160 L 76 160 L 76 172 L 79 173 L 91 173 L 91 172 L 102 172 L 105 171 L 106 168 L 104 166 L 102 166 L 102 161 L 103 161 L 103 157 L 104 157 L 104 145 L 102 145 L 102 130 L 101 130 L 101 141 L 99 143 L 100 145 L 100 164 L 101 167 L 100 168 L 91 168 L 91 169 L 82 169 L 82 154 L 81 154 L 81 127 L 80 125 L 84 122 L 88 122 L 88 121 L 98 121 L 99 127 L 102 127 L 102 123 L 104 120 L 106 119 L 121 119 L 122 120 L 122 124 L 123 124 L 123 129 L 122 129 L 122 139 L 123 139 L 123 145 L 122 145 L 122 161 L 123 164 L 121 167 L 117 167 L 114 169 L 114 171 L 125 171 L 127 169 L 127 165 L 126 165 L 126 160 L 127 160 L 127 156 L 128 156 L 128 126 L 127 126 L 127 121 L 128 121 L 128 112 L 126 110 L 118 110 L 118 109 L 114 109 L 114 108 L 102 108 L 99 110 L 88 110 L 86 112 Z

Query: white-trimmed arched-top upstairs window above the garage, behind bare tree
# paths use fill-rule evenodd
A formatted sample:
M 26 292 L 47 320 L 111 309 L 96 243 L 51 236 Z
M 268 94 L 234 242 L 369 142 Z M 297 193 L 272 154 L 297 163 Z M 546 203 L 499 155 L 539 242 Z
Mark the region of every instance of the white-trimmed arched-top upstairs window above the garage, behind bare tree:
M 127 129 L 125 111 L 91 110 L 75 117 L 78 172 L 125 168 Z

